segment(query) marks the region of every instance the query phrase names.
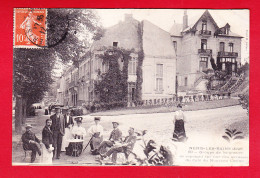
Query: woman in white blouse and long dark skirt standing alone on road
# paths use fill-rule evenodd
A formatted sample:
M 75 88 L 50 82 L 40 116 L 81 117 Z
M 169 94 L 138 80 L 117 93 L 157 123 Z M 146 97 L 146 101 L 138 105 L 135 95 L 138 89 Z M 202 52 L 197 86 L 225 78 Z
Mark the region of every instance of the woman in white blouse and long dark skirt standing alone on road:
M 173 140 L 183 142 L 187 140 L 186 132 L 184 128 L 186 117 L 182 111 L 181 104 L 177 105 L 177 111 L 175 112 L 173 124 L 174 124 L 174 133 Z

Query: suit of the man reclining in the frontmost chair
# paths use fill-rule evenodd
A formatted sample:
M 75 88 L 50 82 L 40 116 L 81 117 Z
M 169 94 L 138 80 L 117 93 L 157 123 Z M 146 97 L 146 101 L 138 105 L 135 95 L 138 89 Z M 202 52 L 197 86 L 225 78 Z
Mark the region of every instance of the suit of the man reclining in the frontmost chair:
M 125 138 L 124 143 L 126 143 L 125 146 L 120 147 L 113 147 L 111 148 L 107 153 L 106 156 L 110 156 L 112 154 L 112 162 L 115 164 L 117 160 L 117 153 L 124 153 L 126 158 L 130 155 L 132 152 L 134 145 L 136 142 L 136 136 L 129 135 Z

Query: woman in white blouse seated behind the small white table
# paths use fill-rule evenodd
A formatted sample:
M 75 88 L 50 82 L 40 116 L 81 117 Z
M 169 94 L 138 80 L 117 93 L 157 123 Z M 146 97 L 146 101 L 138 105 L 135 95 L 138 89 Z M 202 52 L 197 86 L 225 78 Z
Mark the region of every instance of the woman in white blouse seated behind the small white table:
M 74 139 L 80 139 L 79 142 L 71 142 L 66 149 L 66 154 L 70 156 L 79 156 L 83 149 L 83 138 L 87 135 L 86 129 L 81 126 L 82 117 L 76 117 L 76 125 L 72 127 L 71 134 Z M 77 150 L 74 150 L 77 149 Z

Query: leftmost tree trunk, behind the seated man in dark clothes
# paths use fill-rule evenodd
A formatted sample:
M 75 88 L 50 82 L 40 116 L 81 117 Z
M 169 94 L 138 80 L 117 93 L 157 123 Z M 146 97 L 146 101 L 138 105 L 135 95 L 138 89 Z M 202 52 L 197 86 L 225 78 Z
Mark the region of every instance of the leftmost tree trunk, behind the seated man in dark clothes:
M 16 96 L 16 104 L 15 104 L 15 133 L 21 134 L 22 133 L 22 97 Z

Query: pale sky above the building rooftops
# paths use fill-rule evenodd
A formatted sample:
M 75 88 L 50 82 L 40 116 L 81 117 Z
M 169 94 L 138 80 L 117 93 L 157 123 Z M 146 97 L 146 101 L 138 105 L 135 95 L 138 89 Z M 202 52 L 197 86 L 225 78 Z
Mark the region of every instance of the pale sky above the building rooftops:
M 184 9 L 96 9 L 102 25 L 113 26 L 124 20 L 124 14 L 132 14 L 139 21 L 149 20 L 165 31 L 169 31 L 175 23 L 182 23 Z M 188 21 L 196 21 L 205 9 L 187 9 Z M 249 10 L 209 10 L 219 27 L 226 23 L 231 31 L 244 38 L 242 39 L 242 63 L 249 57 Z

